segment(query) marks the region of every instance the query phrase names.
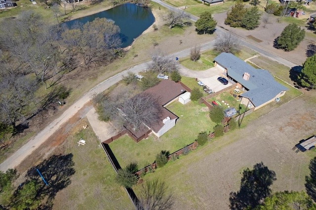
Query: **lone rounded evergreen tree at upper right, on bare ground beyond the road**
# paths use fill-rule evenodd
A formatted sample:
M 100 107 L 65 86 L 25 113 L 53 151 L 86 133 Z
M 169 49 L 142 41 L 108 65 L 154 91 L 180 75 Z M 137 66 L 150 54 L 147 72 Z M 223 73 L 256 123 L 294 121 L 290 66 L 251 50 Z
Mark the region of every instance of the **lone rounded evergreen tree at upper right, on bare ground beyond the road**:
M 276 38 L 276 48 L 284 51 L 294 50 L 305 37 L 305 30 L 295 23 L 284 28 L 281 35 Z

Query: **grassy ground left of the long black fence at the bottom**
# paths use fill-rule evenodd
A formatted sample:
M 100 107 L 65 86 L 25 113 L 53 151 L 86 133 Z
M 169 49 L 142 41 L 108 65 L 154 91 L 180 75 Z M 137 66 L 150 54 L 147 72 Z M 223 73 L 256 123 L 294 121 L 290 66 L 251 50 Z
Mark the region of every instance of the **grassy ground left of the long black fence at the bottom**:
M 78 146 L 80 138 L 86 140 L 84 146 Z M 91 127 L 69 135 L 64 146 L 65 153 L 74 155 L 76 173 L 71 184 L 57 193 L 53 210 L 133 209 L 125 190 L 114 181 L 114 169 Z

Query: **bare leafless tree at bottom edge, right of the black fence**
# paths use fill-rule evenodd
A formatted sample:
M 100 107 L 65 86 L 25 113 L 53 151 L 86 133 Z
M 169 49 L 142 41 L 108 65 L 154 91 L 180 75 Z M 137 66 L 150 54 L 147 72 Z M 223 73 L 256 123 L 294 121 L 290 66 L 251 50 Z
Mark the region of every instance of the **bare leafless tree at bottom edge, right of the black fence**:
M 174 196 L 163 181 L 148 180 L 142 184 L 137 210 L 170 210 Z

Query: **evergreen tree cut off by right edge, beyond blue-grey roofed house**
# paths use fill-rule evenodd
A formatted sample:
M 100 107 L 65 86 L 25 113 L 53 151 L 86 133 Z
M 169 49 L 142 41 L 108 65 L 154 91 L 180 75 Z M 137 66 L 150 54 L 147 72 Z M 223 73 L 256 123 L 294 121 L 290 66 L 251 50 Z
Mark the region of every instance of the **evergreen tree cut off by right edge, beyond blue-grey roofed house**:
M 301 85 L 314 87 L 316 85 L 316 54 L 307 58 L 303 64 L 303 70 L 299 75 Z

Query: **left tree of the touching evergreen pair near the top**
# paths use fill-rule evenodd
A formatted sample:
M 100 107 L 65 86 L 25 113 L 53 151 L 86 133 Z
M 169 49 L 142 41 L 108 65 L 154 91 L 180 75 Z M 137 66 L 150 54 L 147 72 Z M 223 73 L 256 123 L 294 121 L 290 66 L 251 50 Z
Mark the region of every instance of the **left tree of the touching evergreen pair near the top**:
M 237 2 L 235 6 L 232 7 L 232 10 L 227 12 L 227 18 L 224 23 L 231 27 L 241 27 L 241 21 L 245 12 L 246 9 L 244 8 L 244 4 Z

